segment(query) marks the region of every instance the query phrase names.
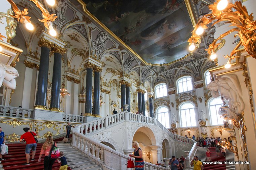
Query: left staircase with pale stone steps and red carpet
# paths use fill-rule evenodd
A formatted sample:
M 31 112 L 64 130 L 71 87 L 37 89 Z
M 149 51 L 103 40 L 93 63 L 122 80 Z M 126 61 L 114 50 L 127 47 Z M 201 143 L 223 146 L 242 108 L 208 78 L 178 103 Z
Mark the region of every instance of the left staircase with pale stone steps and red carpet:
M 92 161 L 92 159 L 86 157 L 80 151 L 71 147 L 70 143 L 63 143 L 62 139 L 64 136 L 61 136 L 54 141 L 57 143 L 60 151 L 64 152 L 64 156 L 67 158 L 68 170 L 102 170 L 102 166 Z M 71 139 L 71 135 L 70 135 Z M 2 161 L 4 170 L 42 170 L 43 169 L 43 160 L 44 156 L 41 158 L 41 162 L 38 162 L 39 153 L 43 143 L 38 143 L 36 148 L 35 161 L 30 161 L 30 165 L 22 166 L 21 164 L 26 162 L 25 158 L 25 147 L 26 144 L 15 143 L 7 144 L 8 145 L 8 155 L 4 155 L 3 158 L 6 159 Z M 32 155 L 32 151 L 30 156 Z M 31 159 L 31 157 L 30 157 Z M 58 170 L 60 164 L 55 161 L 53 165 L 53 170 Z

